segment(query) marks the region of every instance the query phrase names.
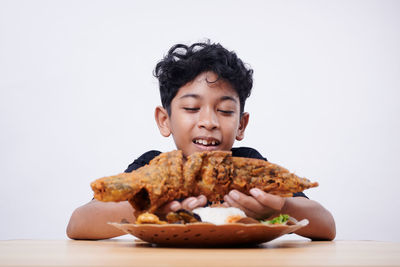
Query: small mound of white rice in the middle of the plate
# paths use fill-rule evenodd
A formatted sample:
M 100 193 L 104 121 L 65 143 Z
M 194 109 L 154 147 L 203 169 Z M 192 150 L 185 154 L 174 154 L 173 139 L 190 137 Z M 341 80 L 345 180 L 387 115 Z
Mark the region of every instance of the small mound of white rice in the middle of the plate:
M 241 209 L 234 207 L 205 207 L 194 209 L 192 212 L 198 214 L 202 222 L 213 223 L 216 225 L 227 223 L 227 219 L 230 216 L 239 215 L 241 217 L 246 217 L 246 214 Z

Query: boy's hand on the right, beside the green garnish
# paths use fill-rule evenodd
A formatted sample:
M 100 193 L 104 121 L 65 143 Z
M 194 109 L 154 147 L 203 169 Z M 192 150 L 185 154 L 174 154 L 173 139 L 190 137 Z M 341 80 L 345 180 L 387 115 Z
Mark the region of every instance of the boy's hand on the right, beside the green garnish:
M 265 193 L 258 188 L 250 189 L 251 196 L 237 190 L 231 190 L 224 197 L 224 206 L 243 210 L 247 216 L 254 219 L 266 219 L 278 213 L 285 204 L 285 198 Z

